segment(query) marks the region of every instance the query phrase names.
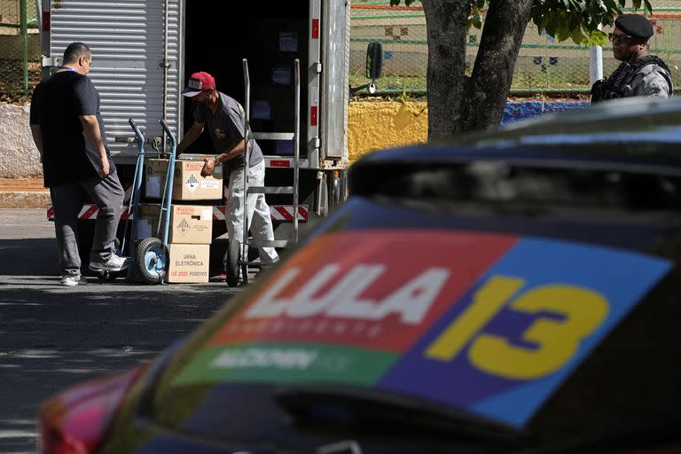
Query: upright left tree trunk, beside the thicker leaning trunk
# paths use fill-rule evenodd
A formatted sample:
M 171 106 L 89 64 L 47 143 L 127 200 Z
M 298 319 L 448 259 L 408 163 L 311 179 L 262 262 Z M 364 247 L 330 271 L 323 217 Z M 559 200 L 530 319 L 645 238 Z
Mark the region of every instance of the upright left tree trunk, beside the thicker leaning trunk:
M 466 88 L 467 0 L 422 0 L 428 33 L 428 140 L 450 137 Z M 453 114 L 452 114 L 453 113 Z

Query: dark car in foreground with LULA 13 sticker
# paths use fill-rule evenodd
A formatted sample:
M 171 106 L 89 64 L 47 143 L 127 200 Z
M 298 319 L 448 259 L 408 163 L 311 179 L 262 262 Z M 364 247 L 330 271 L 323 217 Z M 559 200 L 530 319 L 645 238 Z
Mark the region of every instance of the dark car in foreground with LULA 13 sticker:
M 44 403 L 42 452 L 681 450 L 679 125 L 618 101 L 365 157 L 190 337 Z

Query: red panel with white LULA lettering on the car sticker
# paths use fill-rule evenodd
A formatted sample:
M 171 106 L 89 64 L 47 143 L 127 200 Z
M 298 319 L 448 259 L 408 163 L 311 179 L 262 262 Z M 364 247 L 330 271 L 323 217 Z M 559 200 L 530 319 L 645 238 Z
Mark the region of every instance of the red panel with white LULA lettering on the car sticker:
M 209 345 L 289 341 L 402 353 L 516 241 L 466 231 L 327 233 L 279 268 Z

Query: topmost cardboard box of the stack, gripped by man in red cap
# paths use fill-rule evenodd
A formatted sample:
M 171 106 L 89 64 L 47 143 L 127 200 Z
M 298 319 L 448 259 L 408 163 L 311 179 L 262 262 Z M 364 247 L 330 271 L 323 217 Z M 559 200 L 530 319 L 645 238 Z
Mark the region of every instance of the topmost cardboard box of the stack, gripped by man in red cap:
M 201 176 L 203 161 L 176 160 L 173 200 L 220 200 L 223 198 L 223 168 L 215 166 L 212 175 Z M 168 174 L 168 160 L 145 160 L 145 194 L 161 199 Z

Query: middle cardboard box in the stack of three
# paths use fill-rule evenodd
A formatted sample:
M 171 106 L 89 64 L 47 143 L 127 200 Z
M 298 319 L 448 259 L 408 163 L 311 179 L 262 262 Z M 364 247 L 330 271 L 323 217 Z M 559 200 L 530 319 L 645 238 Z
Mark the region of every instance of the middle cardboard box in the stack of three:
M 142 205 L 137 219 L 137 238 L 155 237 L 159 226 L 159 205 Z M 162 229 L 161 225 L 161 229 Z M 159 238 L 163 235 L 160 231 Z M 213 207 L 173 205 L 170 207 L 168 243 L 209 245 L 213 241 Z

